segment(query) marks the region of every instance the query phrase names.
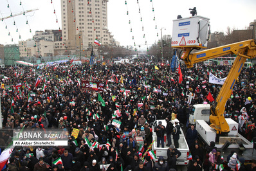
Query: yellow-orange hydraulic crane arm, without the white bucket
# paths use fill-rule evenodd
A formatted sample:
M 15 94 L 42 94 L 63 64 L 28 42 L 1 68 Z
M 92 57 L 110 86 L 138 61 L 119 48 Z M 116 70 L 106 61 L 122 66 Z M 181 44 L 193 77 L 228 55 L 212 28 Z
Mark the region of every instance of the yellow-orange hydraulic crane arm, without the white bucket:
M 184 50 L 181 59 L 184 60 L 187 67 L 192 67 L 193 64 L 196 64 L 197 62 L 202 62 L 223 55 L 237 55 L 235 62 L 233 63 L 232 68 L 230 69 L 230 72 L 228 73 L 228 76 L 223 84 L 223 87 L 219 92 L 219 95 L 217 96 L 214 104 L 211 106 L 210 115 L 210 123 L 212 123 L 210 126 L 213 127 L 217 133 L 229 132 L 229 125 L 226 123 L 223 116 L 226 100 L 230 98 L 233 85 L 235 85 L 235 81 L 241 73 L 246 59 L 256 57 L 255 41 L 246 40 L 217 48 L 198 51 L 196 53 L 192 53 L 192 50 L 195 49 L 192 46 L 183 47 L 181 49 Z

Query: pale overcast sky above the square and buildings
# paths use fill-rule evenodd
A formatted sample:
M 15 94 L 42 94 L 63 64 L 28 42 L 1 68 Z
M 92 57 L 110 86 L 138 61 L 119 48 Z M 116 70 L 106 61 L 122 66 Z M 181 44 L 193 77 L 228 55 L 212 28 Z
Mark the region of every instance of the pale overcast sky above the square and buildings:
M 23 8 L 24 10 L 39 8 L 39 10 L 26 13 L 26 17 L 19 15 L 5 19 L 3 22 L 0 21 L 0 44 L 17 44 L 19 40 L 32 38 L 32 33 L 34 34 L 36 30 L 58 30 L 59 27 L 61 29 L 60 0 L 53 0 L 53 4 L 50 3 L 51 0 L 21 0 L 21 2 L 22 6 L 17 0 L 1 0 L 0 18 L 10 15 L 10 10 L 13 14 L 23 12 Z M 7 8 L 8 3 L 10 8 Z M 53 13 L 53 6 L 58 23 Z M 210 19 L 212 32 L 225 32 L 228 26 L 241 30 L 256 19 L 255 0 L 152 0 L 152 2 L 151 0 L 138 0 L 138 3 L 137 0 L 127 0 L 127 5 L 124 0 L 109 0 L 107 6 L 108 29 L 114 35 L 114 39 L 122 46 L 134 45 L 135 42 L 137 46 L 142 45 L 142 48 L 146 47 L 146 40 L 148 46 L 151 46 L 155 41 L 161 39 L 161 28 L 163 28 L 163 35 L 172 35 L 172 21 L 177 18 L 177 15 L 190 17 L 189 8 L 196 7 L 197 15 Z M 140 13 L 138 6 L 140 6 Z M 154 7 L 154 12 L 152 12 L 152 7 Z M 127 10 L 129 15 L 127 15 Z M 26 20 L 30 27 L 26 24 Z M 129 20 L 131 24 L 129 24 Z M 5 28 L 6 25 L 8 29 Z M 144 31 L 142 31 L 142 26 Z M 30 33 L 30 28 L 32 33 Z M 133 32 L 131 32 L 131 28 Z M 10 32 L 10 36 L 8 36 L 8 32 Z M 143 38 L 144 34 L 145 38 Z M 19 39 L 19 35 L 21 35 L 21 39 Z M 12 42 L 12 38 L 14 42 Z

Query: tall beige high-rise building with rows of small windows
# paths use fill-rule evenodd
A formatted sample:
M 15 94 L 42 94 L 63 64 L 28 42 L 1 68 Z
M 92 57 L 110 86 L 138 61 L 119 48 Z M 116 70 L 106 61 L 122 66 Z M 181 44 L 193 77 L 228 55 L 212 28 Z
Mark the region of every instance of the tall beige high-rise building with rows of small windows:
M 108 0 L 61 0 L 62 42 L 68 49 L 87 49 L 102 44 L 114 44 L 107 30 Z

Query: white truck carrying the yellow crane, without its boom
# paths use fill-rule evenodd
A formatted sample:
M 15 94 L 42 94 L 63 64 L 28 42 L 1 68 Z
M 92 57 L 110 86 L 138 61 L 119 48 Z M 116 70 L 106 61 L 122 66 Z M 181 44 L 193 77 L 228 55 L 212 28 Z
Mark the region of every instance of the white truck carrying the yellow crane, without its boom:
M 215 142 L 215 147 L 223 151 L 224 159 L 233 150 L 238 152 L 239 156 L 246 160 L 246 162 L 251 161 L 251 159 L 256 158 L 256 154 L 253 153 L 253 143 L 248 141 L 238 132 L 238 123 L 231 118 L 226 118 L 226 122 L 230 127 L 230 132 L 228 136 L 220 136 L 219 142 L 216 142 L 216 131 L 208 125 L 210 116 L 210 105 L 209 104 L 196 104 L 193 105 L 190 114 L 189 122 L 196 126 L 196 130 L 199 134 L 199 139 L 203 141 L 203 145 L 210 145 L 211 141 Z M 228 141 L 228 145 L 226 142 Z M 256 142 L 254 148 L 256 147 Z

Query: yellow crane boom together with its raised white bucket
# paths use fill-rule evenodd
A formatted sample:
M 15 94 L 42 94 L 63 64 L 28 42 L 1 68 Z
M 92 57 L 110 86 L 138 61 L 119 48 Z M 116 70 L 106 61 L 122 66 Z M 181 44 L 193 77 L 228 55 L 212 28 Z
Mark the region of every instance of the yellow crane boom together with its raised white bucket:
M 229 125 L 226 123 L 223 114 L 226 101 L 230 98 L 235 81 L 241 73 L 246 59 L 256 57 L 256 46 L 255 40 L 245 40 L 192 53 L 194 49 L 206 48 L 210 35 L 210 30 L 208 30 L 210 27 L 209 23 L 208 18 L 201 16 L 174 20 L 172 47 L 183 49 L 181 60 L 185 62 L 187 67 L 192 67 L 198 62 L 223 55 L 231 54 L 237 56 L 221 87 L 219 95 L 210 107 L 210 126 L 215 129 L 217 134 L 221 134 L 230 132 Z

